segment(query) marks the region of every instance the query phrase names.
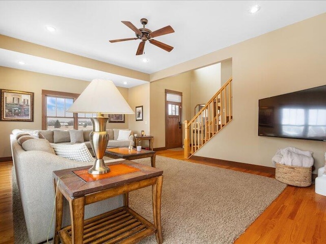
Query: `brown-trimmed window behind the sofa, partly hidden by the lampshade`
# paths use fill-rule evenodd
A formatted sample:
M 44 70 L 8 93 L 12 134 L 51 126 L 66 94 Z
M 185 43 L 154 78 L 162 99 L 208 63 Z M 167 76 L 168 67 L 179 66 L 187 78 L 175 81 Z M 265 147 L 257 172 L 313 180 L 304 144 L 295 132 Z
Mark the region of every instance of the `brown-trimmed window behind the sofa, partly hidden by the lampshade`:
M 79 94 L 42 90 L 42 129 L 92 129 L 89 118 L 96 114 L 66 112 L 78 96 Z

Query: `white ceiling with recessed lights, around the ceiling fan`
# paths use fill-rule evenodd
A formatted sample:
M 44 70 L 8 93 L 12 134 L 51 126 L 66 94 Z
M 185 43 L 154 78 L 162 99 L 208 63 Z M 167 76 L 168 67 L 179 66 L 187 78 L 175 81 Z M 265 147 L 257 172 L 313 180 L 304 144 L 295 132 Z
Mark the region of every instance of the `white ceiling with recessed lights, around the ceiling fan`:
M 260 11 L 249 13 L 255 4 Z M 151 74 L 325 12 L 326 1 L 1 1 L 0 34 Z M 135 37 L 121 21 L 140 28 L 143 17 L 151 31 L 174 28 L 154 38 L 173 46 L 171 52 L 146 42 L 145 54 L 136 56 L 140 40 L 108 42 Z M 49 33 L 46 25 L 57 32 Z M 18 65 L 18 58 L 26 65 Z M 66 65 L 0 49 L 0 66 L 82 80 L 120 79 L 128 84 L 116 85 L 125 87 L 144 83 Z

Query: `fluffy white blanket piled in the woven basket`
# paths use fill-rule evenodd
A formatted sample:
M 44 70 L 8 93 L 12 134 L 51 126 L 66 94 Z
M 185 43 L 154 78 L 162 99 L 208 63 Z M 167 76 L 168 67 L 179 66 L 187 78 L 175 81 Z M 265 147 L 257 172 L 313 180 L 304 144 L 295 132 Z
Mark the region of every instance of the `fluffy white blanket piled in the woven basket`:
M 292 166 L 311 167 L 314 164 L 312 155 L 312 151 L 303 151 L 295 147 L 286 147 L 277 150 L 271 162 L 274 166 L 276 163 L 280 163 Z

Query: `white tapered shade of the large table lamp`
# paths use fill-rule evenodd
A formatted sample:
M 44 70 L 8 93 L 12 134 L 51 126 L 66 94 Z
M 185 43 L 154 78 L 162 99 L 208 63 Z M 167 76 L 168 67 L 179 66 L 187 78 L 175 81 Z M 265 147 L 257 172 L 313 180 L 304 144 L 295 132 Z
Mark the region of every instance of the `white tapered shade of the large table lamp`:
M 94 79 L 67 112 L 132 114 L 129 104 L 111 80 Z

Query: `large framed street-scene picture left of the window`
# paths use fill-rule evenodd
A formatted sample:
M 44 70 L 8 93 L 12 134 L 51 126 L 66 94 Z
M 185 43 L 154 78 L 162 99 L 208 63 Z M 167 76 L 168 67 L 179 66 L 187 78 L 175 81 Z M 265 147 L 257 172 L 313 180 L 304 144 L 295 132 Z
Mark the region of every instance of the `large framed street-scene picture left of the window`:
M 1 89 L 1 120 L 34 121 L 34 93 Z

